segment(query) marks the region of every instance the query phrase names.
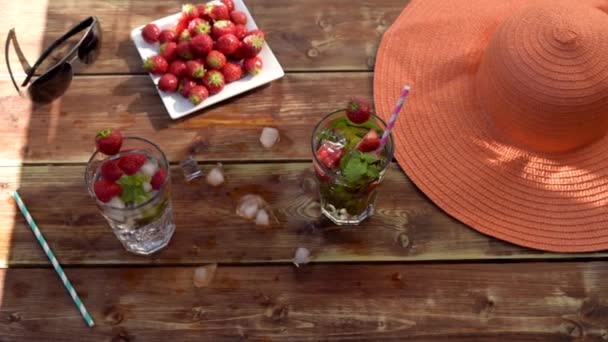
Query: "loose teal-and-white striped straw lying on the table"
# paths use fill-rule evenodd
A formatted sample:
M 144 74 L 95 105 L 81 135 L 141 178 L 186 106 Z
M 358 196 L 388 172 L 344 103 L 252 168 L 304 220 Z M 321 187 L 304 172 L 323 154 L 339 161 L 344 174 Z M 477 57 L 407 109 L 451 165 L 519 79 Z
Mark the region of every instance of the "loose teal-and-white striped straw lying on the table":
M 82 301 L 80 300 L 80 297 L 78 297 L 74 286 L 72 286 L 72 283 L 65 275 L 65 272 L 63 272 L 63 268 L 61 268 L 61 265 L 59 265 L 57 258 L 55 258 L 55 254 L 53 254 L 53 251 L 51 251 L 51 248 L 49 247 L 48 243 L 46 243 L 44 236 L 42 236 L 40 229 L 38 229 L 36 222 L 34 222 L 32 215 L 30 215 L 29 211 L 27 210 L 27 207 L 21 200 L 21 196 L 19 196 L 19 193 L 17 193 L 17 191 L 13 192 L 13 198 L 15 198 L 15 201 L 17 202 L 21 213 L 25 217 L 27 223 L 30 225 L 30 228 L 32 228 L 32 232 L 34 232 L 34 235 L 36 235 L 36 239 L 38 239 L 38 242 L 40 243 L 40 246 L 42 246 L 44 253 L 46 253 L 46 256 L 51 261 L 51 264 L 53 264 L 55 272 L 57 272 L 57 275 L 59 276 L 59 278 L 61 278 L 63 286 L 65 286 L 66 290 L 68 290 L 70 297 L 72 297 L 72 300 L 74 301 L 74 304 L 76 304 L 78 311 L 80 311 L 82 318 L 84 318 L 84 321 L 87 323 L 89 328 L 93 327 L 95 325 L 95 322 L 93 322 L 93 318 L 91 318 L 91 315 L 89 315 L 87 308 L 85 308 L 84 304 L 82 304 Z

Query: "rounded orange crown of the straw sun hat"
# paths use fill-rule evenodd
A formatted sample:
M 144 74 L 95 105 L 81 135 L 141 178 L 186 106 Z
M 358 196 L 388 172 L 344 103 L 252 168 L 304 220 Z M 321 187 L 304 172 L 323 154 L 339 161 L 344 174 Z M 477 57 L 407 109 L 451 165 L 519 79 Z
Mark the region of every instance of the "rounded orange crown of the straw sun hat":
M 512 143 L 566 152 L 608 131 L 608 16 L 577 2 L 543 2 L 495 31 L 477 95 Z

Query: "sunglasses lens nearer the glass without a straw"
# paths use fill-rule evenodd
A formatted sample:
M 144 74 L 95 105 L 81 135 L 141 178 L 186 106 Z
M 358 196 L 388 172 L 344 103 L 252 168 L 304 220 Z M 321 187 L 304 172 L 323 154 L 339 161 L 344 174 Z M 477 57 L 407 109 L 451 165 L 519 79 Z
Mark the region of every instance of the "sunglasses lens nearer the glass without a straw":
M 60 97 L 72 83 L 72 66 L 62 63 L 37 78 L 28 88 L 34 102 L 49 103 Z

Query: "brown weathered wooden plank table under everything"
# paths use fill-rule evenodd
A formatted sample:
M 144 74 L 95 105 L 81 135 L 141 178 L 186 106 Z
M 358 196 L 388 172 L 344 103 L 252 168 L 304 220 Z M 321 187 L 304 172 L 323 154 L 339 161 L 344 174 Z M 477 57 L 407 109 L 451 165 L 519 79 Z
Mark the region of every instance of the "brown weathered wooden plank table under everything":
M 285 78 L 172 121 L 129 32 L 176 12 L 179 1 L 5 2 L 0 33 L 15 27 L 30 63 L 87 15 L 101 20 L 104 43 L 50 105 L 17 96 L 0 66 L 0 341 L 608 340 L 606 253 L 545 253 L 481 235 L 434 206 L 397 165 L 361 227 L 320 217 L 312 127 L 349 95 L 371 98 L 375 51 L 406 3 L 248 0 Z M 203 141 L 201 167 L 226 167 L 219 189 L 186 183 L 174 167 L 177 232 L 154 256 L 125 252 L 85 191 L 92 138 L 107 126 L 157 142 L 174 165 Z M 275 149 L 258 142 L 264 126 L 281 132 Z M 10 199 L 17 188 L 93 329 Z M 236 200 L 250 192 L 280 224 L 262 229 L 236 217 Z M 298 269 L 299 246 L 313 263 Z M 195 268 L 210 263 L 215 279 L 195 287 Z

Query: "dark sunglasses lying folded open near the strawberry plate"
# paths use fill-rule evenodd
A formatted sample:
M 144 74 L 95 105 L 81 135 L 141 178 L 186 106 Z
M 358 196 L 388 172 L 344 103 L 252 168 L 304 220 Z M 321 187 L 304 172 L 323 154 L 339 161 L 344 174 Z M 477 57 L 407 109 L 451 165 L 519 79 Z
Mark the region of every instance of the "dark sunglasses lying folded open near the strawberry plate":
M 40 67 L 40 65 L 45 61 L 45 59 L 48 58 L 49 55 L 55 49 L 61 46 L 61 44 L 63 44 L 66 40 L 82 32 L 83 30 L 86 30 L 86 33 L 78 41 L 78 43 L 63 58 L 61 58 L 59 62 L 57 62 L 54 66 L 52 66 L 42 75 L 40 75 L 40 77 L 36 78 L 30 83 L 32 77 L 36 73 L 36 69 Z M 6 44 L 4 46 L 4 55 L 6 58 L 8 72 L 11 75 L 13 84 L 17 89 L 19 89 L 13 77 L 13 72 L 11 71 L 11 66 L 8 57 L 9 41 L 11 39 L 15 39 L 14 30 L 11 30 L 8 34 L 8 38 L 6 39 Z M 34 102 L 51 102 L 63 95 L 65 91 L 69 88 L 70 83 L 72 83 L 72 63 L 74 63 L 75 60 L 79 60 L 80 62 L 86 65 L 91 64 L 99 56 L 100 50 L 101 27 L 99 25 L 99 20 L 95 17 L 88 17 L 82 22 L 80 22 L 78 25 L 74 26 L 63 36 L 54 41 L 53 44 L 46 48 L 46 50 L 44 50 L 44 52 L 42 53 L 40 58 L 38 58 L 34 66 L 27 71 L 27 76 L 21 86 L 24 87 L 28 83 L 30 83 L 30 86 L 28 87 L 28 92 Z

